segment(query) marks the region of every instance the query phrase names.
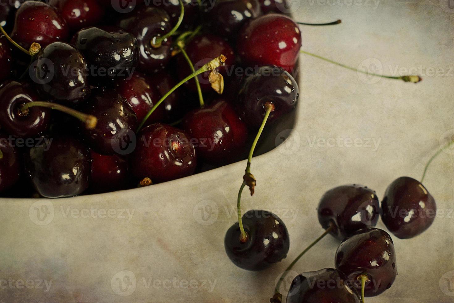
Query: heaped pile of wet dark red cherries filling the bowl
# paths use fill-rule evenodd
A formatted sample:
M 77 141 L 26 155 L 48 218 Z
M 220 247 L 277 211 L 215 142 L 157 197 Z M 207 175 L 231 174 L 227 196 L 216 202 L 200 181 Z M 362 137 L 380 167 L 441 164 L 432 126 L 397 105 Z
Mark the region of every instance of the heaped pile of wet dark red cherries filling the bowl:
M 102 193 L 233 163 L 265 104 L 269 121 L 295 108 L 301 33 L 270 1 L 123 2 L 1 6 L 1 196 Z

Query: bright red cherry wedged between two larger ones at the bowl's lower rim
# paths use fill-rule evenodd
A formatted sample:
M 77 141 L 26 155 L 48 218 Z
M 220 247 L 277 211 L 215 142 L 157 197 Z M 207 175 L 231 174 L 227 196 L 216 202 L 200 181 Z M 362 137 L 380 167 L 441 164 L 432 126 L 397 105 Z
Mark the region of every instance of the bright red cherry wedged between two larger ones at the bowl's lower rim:
M 119 155 L 102 155 L 91 150 L 90 189 L 94 193 L 107 193 L 128 186 L 128 161 Z

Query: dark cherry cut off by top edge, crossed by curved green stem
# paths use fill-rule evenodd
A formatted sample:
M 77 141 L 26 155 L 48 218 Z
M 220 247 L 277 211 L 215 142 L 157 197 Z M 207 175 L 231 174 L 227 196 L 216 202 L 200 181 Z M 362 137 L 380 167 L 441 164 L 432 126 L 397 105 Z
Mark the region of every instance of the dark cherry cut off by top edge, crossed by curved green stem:
M 181 29 L 188 29 L 191 25 L 196 23 L 198 17 L 199 6 L 197 0 L 182 0 L 184 5 L 184 16 L 183 22 L 181 23 Z M 150 5 L 156 8 L 165 10 L 169 17 L 172 26 L 175 26 L 180 17 L 180 2 L 178 0 L 168 1 L 151 1 Z

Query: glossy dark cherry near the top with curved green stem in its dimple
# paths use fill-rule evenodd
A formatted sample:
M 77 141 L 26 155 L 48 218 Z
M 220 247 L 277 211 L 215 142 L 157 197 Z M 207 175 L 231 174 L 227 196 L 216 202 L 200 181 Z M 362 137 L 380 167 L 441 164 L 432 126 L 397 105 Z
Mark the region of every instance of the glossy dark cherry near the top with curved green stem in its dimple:
M 163 41 L 158 48 L 151 46 L 153 39 L 167 34 L 172 29 L 170 17 L 164 10 L 146 6 L 121 20 L 119 25 L 137 38 L 140 50 L 139 70 L 151 74 L 167 65 L 170 60 L 172 39 Z

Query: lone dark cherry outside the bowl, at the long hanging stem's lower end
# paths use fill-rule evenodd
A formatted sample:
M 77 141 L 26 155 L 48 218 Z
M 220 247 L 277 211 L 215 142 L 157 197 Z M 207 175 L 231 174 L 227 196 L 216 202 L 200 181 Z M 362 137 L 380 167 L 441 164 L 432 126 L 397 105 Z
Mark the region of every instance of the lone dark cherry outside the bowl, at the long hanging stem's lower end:
M 238 222 L 227 230 L 224 246 L 227 256 L 240 268 L 258 271 L 286 258 L 290 248 L 287 228 L 275 214 L 249 210 L 243 217 L 246 241 L 240 239 Z

